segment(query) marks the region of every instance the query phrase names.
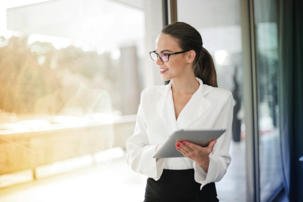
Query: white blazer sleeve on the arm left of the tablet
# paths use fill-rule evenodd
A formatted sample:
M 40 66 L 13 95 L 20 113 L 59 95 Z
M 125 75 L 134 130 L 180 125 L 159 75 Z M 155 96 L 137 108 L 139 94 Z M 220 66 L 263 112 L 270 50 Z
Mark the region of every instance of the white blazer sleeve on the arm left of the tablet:
M 159 158 L 158 161 L 153 158 L 157 145 L 149 145 L 147 126 L 143 118 L 144 107 L 148 106 L 145 106 L 143 90 L 134 134 L 126 140 L 126 163 L 136 173 L 158 180 L 163 171 L 165 158 Z

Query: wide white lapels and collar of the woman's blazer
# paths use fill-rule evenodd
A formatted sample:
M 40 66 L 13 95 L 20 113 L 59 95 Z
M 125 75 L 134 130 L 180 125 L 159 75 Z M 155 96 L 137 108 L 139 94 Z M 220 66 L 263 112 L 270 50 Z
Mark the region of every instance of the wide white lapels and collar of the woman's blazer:
M 211 101 L 208 101 L 203 96 L 214 90 L 214 88 L 205 84 L 203 85 L 203 81 L 200 78 L 196 77 L 196 79 L 200 83 L 200 86 L 180 112 L 177 121 L 175 118 L 171 81 L 169 84 L 157 89 L 163 96 L 156 103 L 156 108 L 170 135 L 179 129 L 187 129 L 200 118 L 212 104 Z

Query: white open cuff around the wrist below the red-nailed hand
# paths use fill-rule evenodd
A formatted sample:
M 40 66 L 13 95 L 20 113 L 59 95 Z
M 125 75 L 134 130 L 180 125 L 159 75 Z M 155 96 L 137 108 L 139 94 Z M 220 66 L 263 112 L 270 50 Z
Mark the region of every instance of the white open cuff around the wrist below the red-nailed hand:
M 209 166 L 208 172 L 206 173 L 199 165 L 194 161 L 195 167 L 195 180 L 196 182 L 201 184 L 200 190 L 205 184 L 213 182 L 215 177 L 217 176 L 218 163 L 217 161 L 210 155 L 209 156 Z

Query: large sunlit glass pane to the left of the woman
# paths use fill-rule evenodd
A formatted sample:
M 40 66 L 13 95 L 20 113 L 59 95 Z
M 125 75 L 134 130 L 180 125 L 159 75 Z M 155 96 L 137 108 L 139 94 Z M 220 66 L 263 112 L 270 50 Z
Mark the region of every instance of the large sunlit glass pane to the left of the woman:
M 146 29 L 161 27 L 158 5 L 0 1 L 1 201 L 143 201 L 146 178 L 125 164 L 125 141 L 152 83 Z

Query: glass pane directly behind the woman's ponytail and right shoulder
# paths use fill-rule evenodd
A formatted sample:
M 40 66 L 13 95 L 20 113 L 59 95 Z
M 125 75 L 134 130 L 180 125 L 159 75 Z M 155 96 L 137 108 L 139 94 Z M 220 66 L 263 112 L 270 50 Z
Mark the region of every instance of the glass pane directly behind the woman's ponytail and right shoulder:
M 190 2 L 190 3 L 189 3 Z M 243 65 L 239 0 L 177 1 L 178 21 L 196 28 L 203 47 L 212 55 L 218 87 L 234 97 L 231 164 L 216 182 L 219 200 L 246 201 Z

